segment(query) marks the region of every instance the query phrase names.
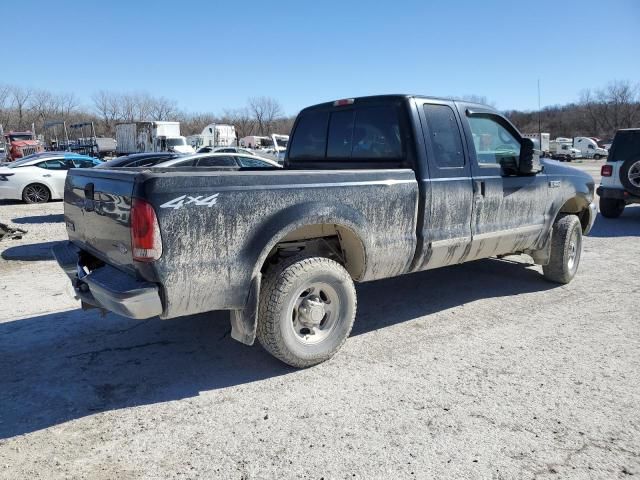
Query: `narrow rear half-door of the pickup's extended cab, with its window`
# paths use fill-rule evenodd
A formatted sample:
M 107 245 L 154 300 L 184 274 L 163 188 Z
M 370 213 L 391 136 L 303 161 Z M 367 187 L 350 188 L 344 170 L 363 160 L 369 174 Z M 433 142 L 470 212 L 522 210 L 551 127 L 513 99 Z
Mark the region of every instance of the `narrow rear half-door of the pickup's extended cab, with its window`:
M 422 249 L 413 270 L 465 261 L 471 246 L 473 191 L 460 118 L 453 102 L 416 99 L 428 175 L 419 172 Z

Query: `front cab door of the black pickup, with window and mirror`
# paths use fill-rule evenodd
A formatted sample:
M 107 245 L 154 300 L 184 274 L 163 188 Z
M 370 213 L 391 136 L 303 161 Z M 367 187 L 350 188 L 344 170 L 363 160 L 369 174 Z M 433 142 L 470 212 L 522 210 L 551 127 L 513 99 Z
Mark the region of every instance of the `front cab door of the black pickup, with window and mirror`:
M 505 168 L 517 170 L 522 137 L 501 115 L 472 108 L 461 110 L 474 191 L 468 259 L 532 248 L 549 215 L 547 176 L 518 175 Z

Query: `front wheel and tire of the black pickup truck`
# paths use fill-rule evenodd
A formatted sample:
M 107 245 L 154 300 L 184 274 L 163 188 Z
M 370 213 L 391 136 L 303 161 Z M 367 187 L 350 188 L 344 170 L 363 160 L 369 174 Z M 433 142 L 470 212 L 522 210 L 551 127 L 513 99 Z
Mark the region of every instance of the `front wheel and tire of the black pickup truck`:
M 553 225 L 551 257 L 542 273 L 551 282 L 567 284 L 575 277 L 582 256 L 582 225 L 575 215 L 566 215 Z

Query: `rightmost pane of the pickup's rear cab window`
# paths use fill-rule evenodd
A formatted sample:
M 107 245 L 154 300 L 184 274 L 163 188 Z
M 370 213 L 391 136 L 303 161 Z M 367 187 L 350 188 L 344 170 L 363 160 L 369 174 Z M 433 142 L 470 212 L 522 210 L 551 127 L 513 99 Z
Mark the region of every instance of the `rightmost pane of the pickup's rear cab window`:
M 357 110 L 352 143 L 351 158 L 401 158 L 402 142 L 395 107 Z

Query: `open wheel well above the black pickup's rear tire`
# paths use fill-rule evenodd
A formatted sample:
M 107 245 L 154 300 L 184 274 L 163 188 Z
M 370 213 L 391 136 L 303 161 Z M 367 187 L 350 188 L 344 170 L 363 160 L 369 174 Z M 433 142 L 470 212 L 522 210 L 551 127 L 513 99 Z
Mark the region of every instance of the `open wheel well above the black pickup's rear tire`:
M 261 271 L 301 251 L 332 258 L 344 266 L 354 280 L 364 276 L 366 256 L 358 235 L 342 225 L 326 223 L 305 225 L 287 233 L 271 249 Z

